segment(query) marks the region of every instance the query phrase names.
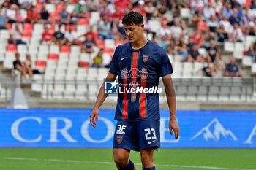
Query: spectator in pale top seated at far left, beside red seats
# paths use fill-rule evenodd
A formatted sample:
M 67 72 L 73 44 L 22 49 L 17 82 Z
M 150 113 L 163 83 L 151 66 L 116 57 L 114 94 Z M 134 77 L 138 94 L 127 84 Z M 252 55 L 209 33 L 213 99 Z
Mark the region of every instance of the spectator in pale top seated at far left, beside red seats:
M 15 28 L 10 31 L 10 44 L 26 45 L 26 42 L 22 41 L 22 32 L 19 28 L 19 23 L 15 23 Z

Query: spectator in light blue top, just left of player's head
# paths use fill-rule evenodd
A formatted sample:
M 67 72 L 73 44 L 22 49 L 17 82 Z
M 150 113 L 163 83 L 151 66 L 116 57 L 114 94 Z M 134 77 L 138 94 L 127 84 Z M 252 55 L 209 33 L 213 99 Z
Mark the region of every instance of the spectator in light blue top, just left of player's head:
M 99 21 L 99 39 L 111 39 L 111 23 L 108 16 L 104 15 L 103 19 Z

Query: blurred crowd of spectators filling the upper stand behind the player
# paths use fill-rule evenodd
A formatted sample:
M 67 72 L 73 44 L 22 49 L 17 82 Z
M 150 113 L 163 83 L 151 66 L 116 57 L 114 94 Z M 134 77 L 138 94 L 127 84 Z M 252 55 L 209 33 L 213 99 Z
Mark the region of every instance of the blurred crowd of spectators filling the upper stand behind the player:
M 55 12 L 48 12 L 47 4 L 54 4 Z M 72 12 L 67 12 L 69 4 L 75 5 Z M 192 18 L 188 22 L 181 20 L 182 8 L 190 9 Z M 21 9 L 26 10 L 27 18 L 20 15 Z M 10 44 L 26 44 L 18 24 L 12 23 L 44 23 L 42 44 L 80 45 L 82 53 L 94 53 L 98 39 L 124 42 L 121 18 L 130 10 L 143 14 L 145 34 L 151 34 L 153 42 L 169 55 L 182 55 L 183 61 L 216 63 L 222 58 L 216 42 L 242 42 L 244 36 L 255 36 L 256 31 L 256 0 L 7 0 L 0 1 L 0 29 L 10 30 Z M 91 12 L 99 12 L 97 31 L 90 27 L 88 32 L 77 35 L 74 25 L 88 25 Z M 153 20 L 161 23 L 158 32 L 152 31 Z M 188 33 L 188 23 L 197 26 L 195 33 Z M 58 31 L 52 29 L 56 24 Z M 61 32 L 63 24 L 67 25 L 65 32 Z M 79 40 L 82 36 L 84 41 Z M 206 49 L 206 56 L 198 53 L 200 48 Z M 255 56 L 256 45 L 247 50 Z M 94 66 L 101 66 L 102 60 L 94 61 Z

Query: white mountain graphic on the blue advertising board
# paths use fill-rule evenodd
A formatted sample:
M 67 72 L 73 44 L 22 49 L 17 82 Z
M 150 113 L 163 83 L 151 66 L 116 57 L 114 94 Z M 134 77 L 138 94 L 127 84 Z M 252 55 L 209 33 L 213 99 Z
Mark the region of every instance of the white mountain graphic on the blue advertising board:
M 211 131 L 213 129 L 213 131 Z M 227 136 L 232 137 L 234 141 L 237 141 L 238 139 L 233 134 L 232 131 L 225 129 L 222 125 L 222 123 L 217 120 L 217 118 L 214 118 L 211 120 L 211 122 L 206 125 L 206 127 L 202 128 L 195 136 L 193 136 L 190 140 L 196 139 L 198 136 L 203 135 L 203 138 L 208 141 L 209 139 L 213 139 L 214 141 L 219 141 L 220 136 L 223 136 L 224 138 L 227 138 Z

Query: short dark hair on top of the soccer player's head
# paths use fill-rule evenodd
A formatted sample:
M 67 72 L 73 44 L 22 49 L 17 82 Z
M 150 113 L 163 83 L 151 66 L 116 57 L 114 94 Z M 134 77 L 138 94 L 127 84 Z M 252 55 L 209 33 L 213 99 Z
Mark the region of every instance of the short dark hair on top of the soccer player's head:
M 124 25 L 132 25 L 135 24 L 140 26 L 143 23 L 143 16 L 139 12 L 129 12 L 127 15 L 124 15 L 122 19 L 122 23 Z

